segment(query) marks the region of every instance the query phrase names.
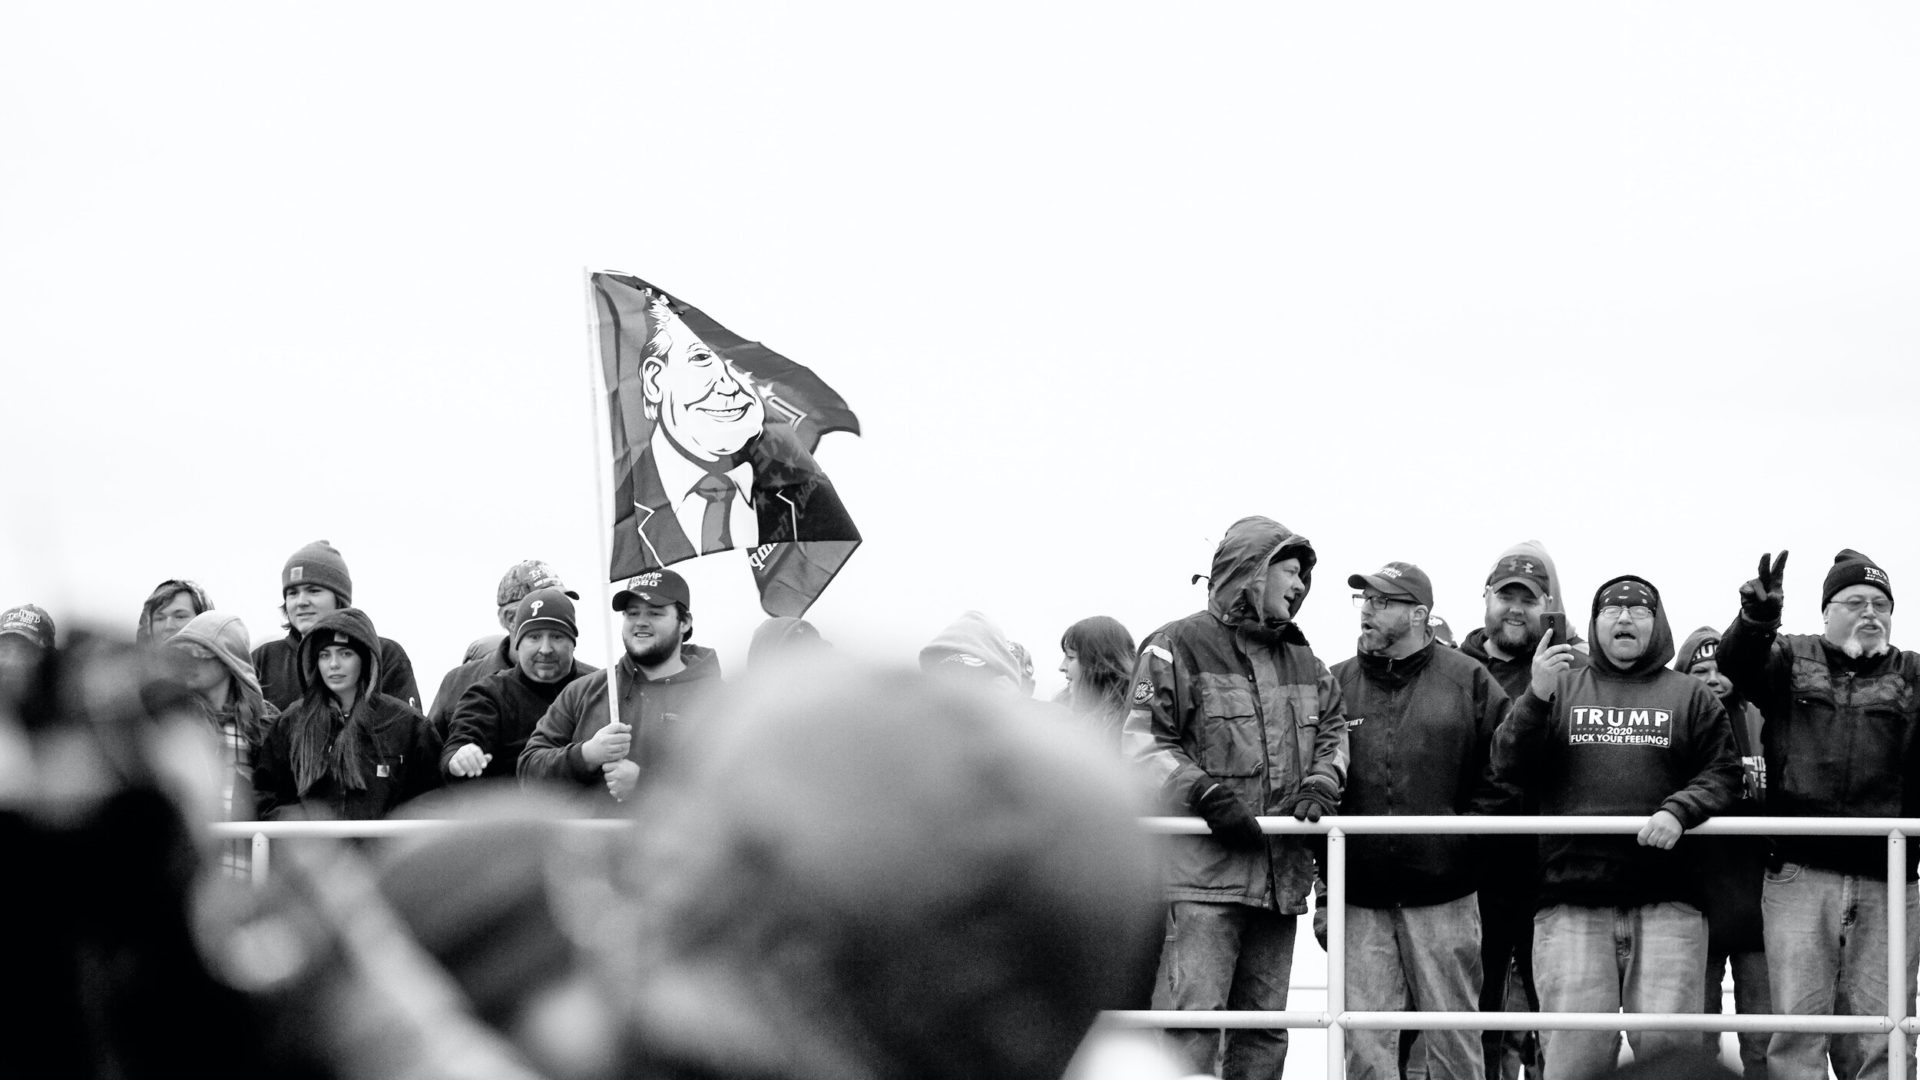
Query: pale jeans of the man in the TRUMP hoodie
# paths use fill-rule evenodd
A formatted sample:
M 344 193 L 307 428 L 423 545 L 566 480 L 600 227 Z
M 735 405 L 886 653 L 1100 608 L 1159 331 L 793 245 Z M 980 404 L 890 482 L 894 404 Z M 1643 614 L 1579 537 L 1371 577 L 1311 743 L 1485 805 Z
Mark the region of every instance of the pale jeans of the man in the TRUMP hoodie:
M 1534 915 L 1534 984 L 1544 1013 L 1699 1013 L 1707 917 L 1692 903 L 1574 907 Z M 1620 1032 L 1542 1028 L 1546 1080 L 1613 1070 Z M 1699 1032 L 1628 1032 L 1634 1059 L 1699 1047 Z

